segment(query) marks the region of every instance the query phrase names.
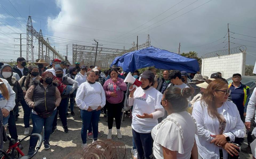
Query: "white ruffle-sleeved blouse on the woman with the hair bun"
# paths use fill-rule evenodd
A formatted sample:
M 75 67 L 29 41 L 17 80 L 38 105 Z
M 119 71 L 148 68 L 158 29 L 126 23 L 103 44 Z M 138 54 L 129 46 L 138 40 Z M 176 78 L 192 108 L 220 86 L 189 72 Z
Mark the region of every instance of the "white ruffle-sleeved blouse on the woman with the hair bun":
M 187 111 L 182 111 L 170 114 L 163 121 L 162 124 L 157 124 L 151 132 L 155 158 L 163 158 L 162 146 L 171 151 L 177 151 L 178 159 L 190 158 L 197 131 L 191 115 Z

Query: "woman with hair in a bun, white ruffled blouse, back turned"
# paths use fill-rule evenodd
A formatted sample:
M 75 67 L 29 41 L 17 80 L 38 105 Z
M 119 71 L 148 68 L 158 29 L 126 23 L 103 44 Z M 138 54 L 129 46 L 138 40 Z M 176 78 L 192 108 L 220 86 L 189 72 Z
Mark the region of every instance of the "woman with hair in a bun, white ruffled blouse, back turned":
M 193 93 L 193 88 L 178 87 L 169 87 L 163 93 L 161 105 L 168 116 L 151 132 L 156 159 L 198 157 L 195 142 L 196 124 L 186 111 L 187 98 Z

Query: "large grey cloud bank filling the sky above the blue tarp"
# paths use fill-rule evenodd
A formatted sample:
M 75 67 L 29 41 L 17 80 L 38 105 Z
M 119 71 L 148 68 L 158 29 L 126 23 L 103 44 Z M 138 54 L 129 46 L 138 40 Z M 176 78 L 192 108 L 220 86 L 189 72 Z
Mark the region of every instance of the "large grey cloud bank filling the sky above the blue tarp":
M 150 21 L 149 23 L 146 23 L 145 25 L 138 27 L 141 24 L 154 18 L 156 15 L 161 14 L 163 11 L 167 10 L 168 8 L 170 8 L 178 2 L 180 1 L 163 0 L 156 2 L 153 0 L 57 0 L 56 5 L 60 8 L 61 11 L 56 17 L 48 17 L 48 20 L 59 23 L 48 21 L 47 28 L 50 31 L 55 31 L 53 33 L 54 36 L 76 40 L 73 41 L 74 43 L 79 43 L 79 41 L 85 41 L 88 43 L 80 43 L 91 45 L 91 43 L 93 43 L 93 38 L 96 38 L 97 40 L 99 40 L 99 44 L 103 44 L 104 47 L 111 46 L 116 48 L 122 48 L 123 44 L 127 45 L 126 47 L 131 46 L 131 43 L 133 41 L 136 41 L 137 34 L 139 36 L 139 44 L 141 44 L 146 41 L 147 34 L 150 34 L 151 45 L 155 47 L 177 52 L 179 42 L 181 42 L 181 52 L 196 51 L 200 57 L 202 54 L 207 52 L 226 49 L 223 48 L 226 43 L 222 43 L 224 42 L 225 38 L 209 45 L 201 45 L 211 43 L 224 37 L 225 34 L 227 33 L 227 23 L 251 27 L 256 25 L 254 9 L 256 1 L 248 1 L 245 5 L 244 2 L 242 1 L 227 0 L 210 1 L 209 3 L 206 3 L 205 5 L 199 8 L 196 7 L 202 5 L 207 1 L 197 1 L 192 5 L 189 5 L 191 3 L 190 1 L 183 1 L 179 3 L 177 6 L 171 8 L 170 10 L 162 14 L 161 16 Z M 187 5 L 189 6 L 179 11 Z M 192 9 L 194 10 L 185 14 L 186 12 Z M 158 22 L 159 20 L 167 16 L 169 17 L 162 20 L 161 22 Z M 165 22 L 167 23 L 163 24 Z M 61 23 L 83 27 L 76 27 Z M 163 25 L 158 26 L 160 24 Z M 138 28 L 134 31 L 131 31 L 136 27 Z M 234 25 L 230 26 L 230 30 L 245 35 L 251 35 L 252 33 L 254 33 L 254 35 L 256 36 L 255 30 L 253 31 L 242 27 L 236 27 Z M 123 33 L 120 33 L 129 31 L 131 31 L 130 33 L 135 34 L 128 33 L 123 35 Z M 233 36 L 241 38 L 241 36 L 239 35 Z M 247 37 L 243 36 L 243 39 L 247 39 Z M 56 47 L 62 50 L 60 51 L 62 54 L 65 54 L 66 52 L 66 46 L 64 45 L 68 43 L 73 43 L 71 40 L 51 40 L 55 41 Z M 246 41 L 239 41 L 237 39 L 233 41 L 237 44 L 254 46 L 253 43 L 248 43 Z M 238 45 L 231 45 L 231 48 L 235 46 Z M 69 45 L 69 56 L 72 56 L 71 48 L 72 46 Z M 250 52 L 256 51 L 253 48 L 247 48 L 248 50 L 250 50 Z M 71 61 L 71 57 L 69 57 L 69 60 Z M 249 58 L 247 62 L 254 63 L 255 59 L 251 60 L 251 58 Z

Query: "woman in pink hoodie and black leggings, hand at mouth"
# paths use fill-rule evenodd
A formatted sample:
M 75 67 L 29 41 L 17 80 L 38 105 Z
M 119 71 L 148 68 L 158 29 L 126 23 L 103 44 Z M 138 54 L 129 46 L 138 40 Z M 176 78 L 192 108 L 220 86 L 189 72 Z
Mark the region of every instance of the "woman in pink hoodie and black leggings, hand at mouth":
M 106 107 L 107 107 L 107 125 L 109 133 L 107 139 L 112 139 L 112 127 L 115 118 L 115 125 L 117 128 L 117 137 L 122 139 L 120 132 L 121 127 L 121 112 L 123 108 L 123 91 L 126 91 L 127 85 L 124 80 L 118 77 L 117 68 L 111 68 L 109 70 L 110 79 L 106 80 L 103 89 L 106 94 Z

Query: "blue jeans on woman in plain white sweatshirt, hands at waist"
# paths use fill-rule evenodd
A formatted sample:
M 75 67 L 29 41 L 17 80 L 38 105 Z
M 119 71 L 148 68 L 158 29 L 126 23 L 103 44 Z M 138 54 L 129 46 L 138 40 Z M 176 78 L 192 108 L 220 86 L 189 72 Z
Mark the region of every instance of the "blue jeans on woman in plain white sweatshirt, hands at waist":
M 81 129 L 81 138 L 83 144 L 86 143 L 86 137 L 87 137 L 87 130 L 91 126 L 93 127 L 93 140 L 98 139 L 98 124 L 99 124 L 99 116 L 101 114 L 101 110 L 92 110 L 92 111 L 87 111 L 87 110 L 81 110 L 81 118 L 83 121 L 82 124 L 82 129 Z

